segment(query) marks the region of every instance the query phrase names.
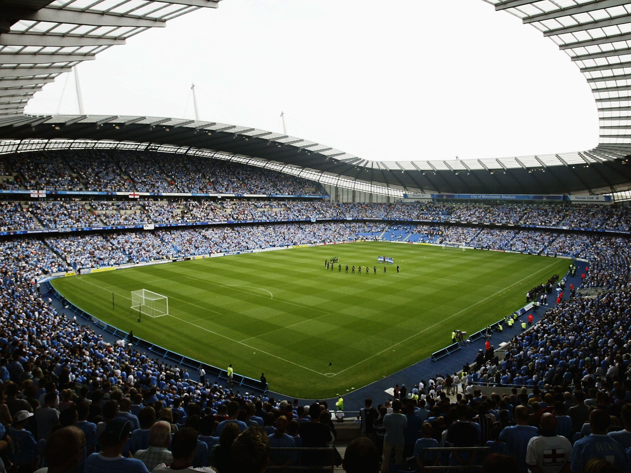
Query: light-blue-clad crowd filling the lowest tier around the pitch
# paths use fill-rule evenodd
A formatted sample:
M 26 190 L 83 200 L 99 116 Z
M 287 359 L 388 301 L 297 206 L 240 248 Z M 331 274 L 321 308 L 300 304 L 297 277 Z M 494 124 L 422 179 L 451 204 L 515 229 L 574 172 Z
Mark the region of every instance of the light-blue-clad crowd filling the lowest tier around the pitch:
M 100 458 L 93 452 L 100 451 L 102 456 L 111 451 L 112 444 L 121 449 L 115 458 L 124 458 L 121 454 L 129 450 L 146 470 L 155 467 L 158 449 L 162 461 L 180 465 L 180 441 L 190 435 L 196 445 L 190 450 L 192 466 L 214 465 L 221 472 L 222 462 L 232 460 L 229 453 L 226 460 L 225 446 L 236 442 L 233 445 L 238 447 L 240 440 L 235 439 L 251 427 L 245 437 L 255 432 L 268 435 L 267 443 L 259 440 L 259 445 L 308 446 L 301 423 L 315 423 L 314 412 L 323 416 L 322 431 L 327 431 L 327 441 L 333 441 L 327 406 L 315 404 L 307 409 L 297 403 L 239 394 L 213 383 L 198 385 L 186 370 L 151 359 L 133 346 L 109 346 L 93 329 L 58 314 L 42 300 L 35 278 L 45 272 L 171 255 L 345 240 L 365 230 L 384 228 L 379 225 L 384 224 L 235 226 L 4 241 L 0 255 L 0 406 L 5 407 L 0 407 L 0 414 L 13 441 L 30 441 L 23 439 L 28 437 L 20 434 L 23 430 L 32 433 L 33 441 L 32 448 L 20 449 L 18 455 L 0 453 L 0 458 L 8 468 L 13 464 L 24 471 L 52 467 L 54 463 L 47 461 L 54 462 L 54 457 L 41 453 L 51 450 L 45 445 L 54 445 L 57 431 L 76 426 L 86 441 L 85 455 L 79 455 L 77 462 L 85 463 L 86 471 Z M 397 387 L 394 400 L 386 400 L 377 409 L 367 400 L 360 420 L 363 435 L 372 441 L 365 446 L 369 457 L 378 463 L 382 456 L 389 463 L 394 448 L 398 462 L 410 455 L 419 466 L 455 466 L 477 458 L 440 455 L 423 448 L 487 446 L 494 454 L 508 455 L 509 470 L 525 472 L 528 466 L 545 463 L 545 445 L 555 441 L 564 448 L 558 462 L 567 463 L 572 473 L 581 473 L 588 460 L 601 456 L 619 471 L 626 471 L 630 460 L 625 451 L 631 448 L 627 240 L 589 235 L 584 237 L 585 243 L 578 243 L 569 233 L 480 231 L 459 226 L 419 225 L 414 231 L 435 236 L 439 242 L 467 241 L 478 246 L 493 247 L 493 238 L 511 243 L 517 238 L 547 238 L 559 242 L 555 248 L 581 248 L 580 255 L 590 261 L 589 266 L 579 268 L 585 274 L 583 284 L 608 291 L 563 300 L 531 330 L 517 334 L 502 361 L 496 363 L 489 357 L 464 374 L 414 380 L 408 383 L 409 389 Z M 512 388 L 512 394 L 483 395 L 473 388 L 480 383 Z M 531 392 L 522 387 L 532 388 Z M 232 429 L 225 427 L 228 424 L 237 426 L 230 440 L 226 440 Z M 162 430 L 164 436 L 156 435 Z M 170 433 L 176 430 L 181 433 L 174 436 L 169 450 Z M 127 434 L 121 436 L 124 432 L 131 434 L 128 444 Z M 118 443 L 110 441 L 114 433 L 119 434 Z M 83 445 L 83 440 L 77 445 Z M 284 457 L 278 453 L 269 457 L 274 465 L 314 464 L 304 453 Z M 140 464 L 134 465 L 145 471 Z

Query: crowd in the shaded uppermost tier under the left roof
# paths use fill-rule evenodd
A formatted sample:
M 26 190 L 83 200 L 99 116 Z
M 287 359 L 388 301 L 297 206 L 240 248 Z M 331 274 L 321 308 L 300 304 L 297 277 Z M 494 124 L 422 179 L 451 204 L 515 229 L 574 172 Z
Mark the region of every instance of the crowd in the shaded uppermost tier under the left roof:
M 22 153 L 0 162 L 3 189 L 326 195 L 301 177 L 235 161 L 115 149 Z

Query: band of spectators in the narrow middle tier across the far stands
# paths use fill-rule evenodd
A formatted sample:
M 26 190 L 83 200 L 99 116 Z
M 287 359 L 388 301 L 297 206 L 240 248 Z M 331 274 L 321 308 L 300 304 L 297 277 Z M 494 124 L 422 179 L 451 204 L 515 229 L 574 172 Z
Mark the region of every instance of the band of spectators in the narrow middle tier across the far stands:
M 120 199 L 120 197 L 119 197 Z M 421 219 L 436 222 L 495 223 L 510 225 L 558 226 L 559 228 L 587 228 L 593 230 L 630 231 L 631 207 L 542 207 L 542 206 L 473 206 L 461 204 L 361 204 L 357 202 L 329 202 L 322 200 L 257 200 L 229 199 L 211 201 L 160 197 L 160 201 L 131 199 L 126 201 L 23 201 L 23 211 L 16 218 L 8 218 L 13 230 L 33 228 L 69 228 L 99 225 L 140 225 L 143 223 L 213 222 L 227 220 L 293 220 L 293 219 Z M 11 207 L 13 204 L 0 204 Z M 14 206 L 16 209 L 17 204 Z M 7 207 L 8 208 L 8 207 Z M 32 213 L 33 216 L 27 215 Z M 39 222 L 37 221 L 39 220 Z M 20 227 L 23 222 L 24 227 Z M 587 225 L 587 226 L 584 226 Z M 499 234 L 499 233 L 498 233 Z M 508 235 L 508 234 L 507 234 Z M 533 233 L 532 235 L 536 235 Z M 466 236 L 466 235 L 465 235 Z M 471 236 L 471 235 L 469 235 Z M 486 237 L 486 235 L 481 235 Z M 492 237 L 490 241 L 492 241 Z M 515 242 L 505 250 L 542 252 L 547 254 L 580 254 L 589 238 L 583 233 L 562 240 L 563 247 L 545 248 L 543 242 Z M 487 242 L 483 242 L 487 247 Z M 530 249 L 528 249 L 530 248 Z

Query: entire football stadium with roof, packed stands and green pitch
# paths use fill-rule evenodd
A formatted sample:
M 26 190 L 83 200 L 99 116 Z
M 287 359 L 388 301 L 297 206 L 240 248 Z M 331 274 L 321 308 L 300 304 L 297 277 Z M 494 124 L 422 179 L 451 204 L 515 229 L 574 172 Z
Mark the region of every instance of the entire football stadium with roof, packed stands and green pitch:
M 630 472 L 631 3 L 480 2 L 579 67 L 579 151 L 85 112 L 82 62 L 234 1 L 0 1 L 0 473 Z

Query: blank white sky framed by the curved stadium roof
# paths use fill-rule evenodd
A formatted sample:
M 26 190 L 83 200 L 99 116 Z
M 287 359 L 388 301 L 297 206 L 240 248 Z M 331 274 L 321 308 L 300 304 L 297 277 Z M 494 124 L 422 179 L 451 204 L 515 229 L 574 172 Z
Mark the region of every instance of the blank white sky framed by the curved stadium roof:
M 589 86 L 535 28 L 481 0 L 224 0 L 79 66 L 85 112 L 287 132 L 368 160 L 498 158 L 598 144 Z M 64 95 L 62 90 L 68 79 Z M 59 100 L 61 98 L 61 107 Z M 63 74 L 29 114 L 76 114 Z

